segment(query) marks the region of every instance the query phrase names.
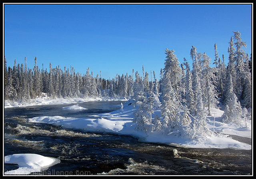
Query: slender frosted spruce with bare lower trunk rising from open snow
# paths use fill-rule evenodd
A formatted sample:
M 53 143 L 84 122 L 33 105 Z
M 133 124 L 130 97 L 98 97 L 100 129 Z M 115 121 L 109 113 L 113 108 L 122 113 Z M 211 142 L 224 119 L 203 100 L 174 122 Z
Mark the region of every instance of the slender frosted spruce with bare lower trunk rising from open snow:
M 212 82 L 212 79 L 214 78 L 212 68 L 210 68 L 210 57 L 208 57 L 205 53 L 202 56 L 203 58 L 203 64 L 202 64 L 202 77 L 204 80 L 204 96 L 205 100 L 204 103 L 208 107 L 208 115 L 211 115 L 210 108 L 216 107 L 217 101 L 217 93 L 215 86 Z

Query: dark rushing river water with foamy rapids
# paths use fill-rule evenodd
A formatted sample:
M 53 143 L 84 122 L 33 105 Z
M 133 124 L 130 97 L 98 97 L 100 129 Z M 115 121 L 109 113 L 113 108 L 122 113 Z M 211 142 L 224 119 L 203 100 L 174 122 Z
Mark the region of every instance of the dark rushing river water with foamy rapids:
M 87 133 L 45 123 L 36 116 L 88 117 L 110 112 L 121 101 L 79 103 L 87 110 L 64 110 L 74 105 L 42 105 L 4 109 L 4 156 L 36 153 L 60 163 L 31 175 L 252 175 L 252 151 L 189 149 L 138 142 L 130 136 Z M 93 118 L 93 117 L 91 117 Z M 233 136 L 251 144 L 251 139 Z M 178 157 L 173 155 L 178 150 Z M 4 170 L 17 169 L 5 164 Z

